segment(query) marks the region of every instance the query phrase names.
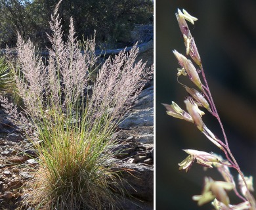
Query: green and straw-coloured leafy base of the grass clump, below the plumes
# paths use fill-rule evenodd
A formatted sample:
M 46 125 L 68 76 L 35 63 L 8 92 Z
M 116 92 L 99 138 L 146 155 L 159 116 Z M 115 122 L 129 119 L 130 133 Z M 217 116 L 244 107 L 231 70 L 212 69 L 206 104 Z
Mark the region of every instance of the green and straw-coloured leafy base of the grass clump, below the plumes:
M 49 110 L 35 123 L 40 169 L 28 201 L 42 209 L 114 209 L 118 177 L 104 162 L 113 155 L 115 124 L 106 113 L 91 125 L 89 110 L 69 111 Z

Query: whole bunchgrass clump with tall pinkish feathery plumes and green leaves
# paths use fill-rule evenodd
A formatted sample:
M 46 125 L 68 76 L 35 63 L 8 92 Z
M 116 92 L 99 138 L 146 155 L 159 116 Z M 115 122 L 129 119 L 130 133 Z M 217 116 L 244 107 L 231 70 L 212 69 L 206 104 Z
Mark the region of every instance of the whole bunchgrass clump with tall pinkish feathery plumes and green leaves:
M 14 79 L 24 104 L 22 112 L 0 97 L 39 156 L 33 191 L 23 203 L 36 209 L 116 209 L 117 193 L 120 196 L 123 190 L 113 165 L 105 163 L 115 155 L 111 148 L 116 144 L 117 125 L 150 70 L 141 61 L 135 64 L 139 49 L 122 51 L 100 67 L 89 94 L 95 47 L 80 52 L 72 19 L 68 41 L 62 41 L 59 5 L 50 23 L 52 48 L 46 64 L 31 41 L 18 35 Z

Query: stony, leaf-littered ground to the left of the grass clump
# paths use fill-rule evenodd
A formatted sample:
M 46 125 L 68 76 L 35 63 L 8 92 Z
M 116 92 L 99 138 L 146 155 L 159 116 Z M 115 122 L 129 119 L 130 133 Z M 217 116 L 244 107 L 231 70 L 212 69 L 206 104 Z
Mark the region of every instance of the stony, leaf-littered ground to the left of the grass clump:
M 0 110 L 0 209 L 16 209 L 37 168 L 35 150 Z

